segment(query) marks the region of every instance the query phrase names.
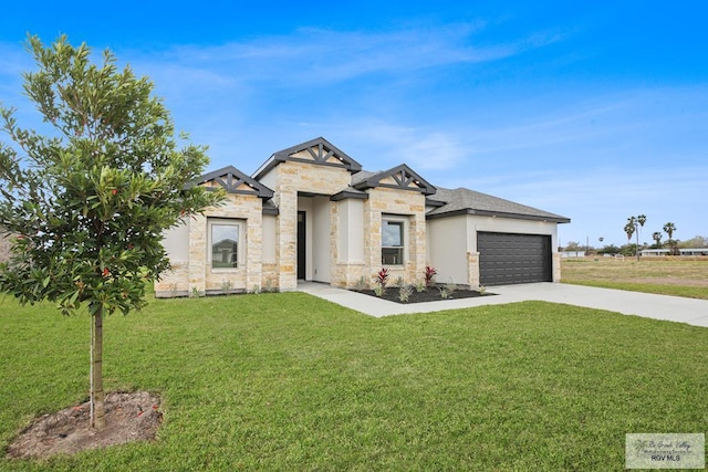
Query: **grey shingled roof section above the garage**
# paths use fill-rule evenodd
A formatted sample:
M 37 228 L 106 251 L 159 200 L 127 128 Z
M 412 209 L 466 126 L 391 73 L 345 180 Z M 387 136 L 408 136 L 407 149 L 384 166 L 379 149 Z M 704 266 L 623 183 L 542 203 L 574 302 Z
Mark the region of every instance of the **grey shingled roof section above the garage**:
M 524 220 L 550 221 L 555 223 L 570 223 L 570 218 L 560 214 L 527 207 L 503 198 L 492 197 L 466 188 L 445 189 L 438 188 L 435 199 L 428 199 L 430 206 L 437 208 L 428 211 L 427 218 L 447 218 L 458 214 L 479 214 L 485 217 L 503 217 Z M 444 203 L 439 206 L 439 203 Z

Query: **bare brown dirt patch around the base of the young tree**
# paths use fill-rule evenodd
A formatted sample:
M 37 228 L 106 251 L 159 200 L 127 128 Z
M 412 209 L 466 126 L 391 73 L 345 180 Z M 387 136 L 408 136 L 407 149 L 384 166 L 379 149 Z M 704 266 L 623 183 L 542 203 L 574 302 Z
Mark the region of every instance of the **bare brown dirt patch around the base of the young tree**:
M 86 449 L 155 439 L 163 413 L 159 397 L 147 391 L 111 392 L 105 398 L 105 429 L 90 424 L 88 402 L 38 418 L 8 448 L 8 458 L 49 458 Z

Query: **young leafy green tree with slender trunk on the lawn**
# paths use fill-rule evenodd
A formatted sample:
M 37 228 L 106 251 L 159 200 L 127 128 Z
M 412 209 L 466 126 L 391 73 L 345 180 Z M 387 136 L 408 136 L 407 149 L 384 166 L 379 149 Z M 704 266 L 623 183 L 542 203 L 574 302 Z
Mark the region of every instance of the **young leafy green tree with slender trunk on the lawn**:
M 66 36 L 28 40 L 38 71 L 24 92 L 53 125 L 43 136 L 0 107 L 0 230 L 12 255 L 0 264 L 0 292 L 22 304 L 56 302 L 63 314 L 92 317 L 91 422 L 104 427 L 103 317 L 146 304 L 145 284 L 169 269 L 163 231 L 222 196 L 186 186 L 208 161 L 206 148 L 177 147 L 174 125 L 153 84 L 119 71 L 106 51 Z

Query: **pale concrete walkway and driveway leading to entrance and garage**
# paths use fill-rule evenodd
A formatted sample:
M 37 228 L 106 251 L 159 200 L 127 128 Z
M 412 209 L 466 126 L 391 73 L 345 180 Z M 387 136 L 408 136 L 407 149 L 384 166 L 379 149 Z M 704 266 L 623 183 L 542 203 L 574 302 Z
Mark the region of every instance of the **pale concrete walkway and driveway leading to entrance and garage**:
M 489 289 L 490 293 L 497 294 L 493 296 L 441 300 L 439 302 L 409 305 L 388 302 L 347 290 L 334 289 L 329 284 L 316 282 L 301 281 L 298 283 L 298 290 L 376 317 L 538 300 L 708 327 L 708 300 L 653 295 L 561 283 L 493 286 Z

